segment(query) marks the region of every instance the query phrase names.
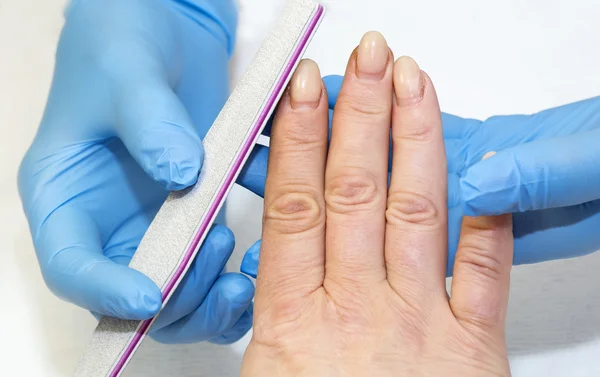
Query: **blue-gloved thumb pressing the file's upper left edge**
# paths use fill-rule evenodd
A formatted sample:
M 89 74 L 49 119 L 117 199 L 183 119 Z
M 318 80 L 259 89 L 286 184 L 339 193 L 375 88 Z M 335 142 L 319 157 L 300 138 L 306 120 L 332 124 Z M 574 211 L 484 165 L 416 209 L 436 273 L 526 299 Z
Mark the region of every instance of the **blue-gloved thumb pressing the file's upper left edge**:
M 187 111 L 166 82 L 124 85 L 117 99 L 117 134 L 144 171 L 168 190 L 196 183 L 202 141 Z

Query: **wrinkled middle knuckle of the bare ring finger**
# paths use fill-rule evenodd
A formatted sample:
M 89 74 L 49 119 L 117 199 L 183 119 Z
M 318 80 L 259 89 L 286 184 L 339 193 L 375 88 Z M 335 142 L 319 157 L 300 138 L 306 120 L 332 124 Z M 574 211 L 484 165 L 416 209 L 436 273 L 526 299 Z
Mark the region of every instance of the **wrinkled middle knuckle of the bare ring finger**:
M 386 221 L 393 226 L 410 224 L 437 227 L 441 224 L 439 211 L 433 201 L 410 191 L 396 191 L 388 196 Z

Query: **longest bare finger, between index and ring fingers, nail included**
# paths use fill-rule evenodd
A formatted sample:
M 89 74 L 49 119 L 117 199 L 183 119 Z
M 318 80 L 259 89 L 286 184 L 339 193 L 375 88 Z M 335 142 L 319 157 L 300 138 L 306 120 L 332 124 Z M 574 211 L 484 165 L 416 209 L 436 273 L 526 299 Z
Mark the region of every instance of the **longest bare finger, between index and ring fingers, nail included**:
M 383 239 L 392 62 L 383 36 L 370 32 L 348 63 L 325 174 L 326 285 L 382 281 L 386 276 Z

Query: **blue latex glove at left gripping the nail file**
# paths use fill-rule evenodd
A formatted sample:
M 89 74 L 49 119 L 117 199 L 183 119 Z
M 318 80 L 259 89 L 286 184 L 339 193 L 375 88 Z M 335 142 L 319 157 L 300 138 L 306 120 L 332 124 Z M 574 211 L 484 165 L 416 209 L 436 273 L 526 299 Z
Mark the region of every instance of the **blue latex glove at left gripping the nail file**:
M 168 190 L 197 180 L 201 138 L 228 96 L 236 22 L 229 0 L 80 0 L 67 10 L 46 111 L 19 172 L 56 295 L 95 314 L 157 314 L 159 288 L 127 264 Z M 266 151 L 253 161 L 264 169 Z M 254 187 L 251 171 L 240 181 Z M 230 343 L 246 333 L 254 286 L 222 274 L 233 245 L 229 230 L 212 229 L 155 339 Z

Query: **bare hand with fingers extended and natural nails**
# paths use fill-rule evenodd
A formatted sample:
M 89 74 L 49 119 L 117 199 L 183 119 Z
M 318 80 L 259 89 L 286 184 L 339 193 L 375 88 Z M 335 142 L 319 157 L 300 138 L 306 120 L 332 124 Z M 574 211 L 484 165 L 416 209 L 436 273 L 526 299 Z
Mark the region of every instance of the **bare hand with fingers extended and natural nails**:
M 511 217 L 464 219 L 449 298 L 439 105 L 411 58 L 393 61 L 380 34 L 365 35 L 329 149 L 314 62 L 281 101 L 243 377 L 510 375 Z

